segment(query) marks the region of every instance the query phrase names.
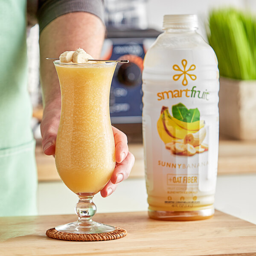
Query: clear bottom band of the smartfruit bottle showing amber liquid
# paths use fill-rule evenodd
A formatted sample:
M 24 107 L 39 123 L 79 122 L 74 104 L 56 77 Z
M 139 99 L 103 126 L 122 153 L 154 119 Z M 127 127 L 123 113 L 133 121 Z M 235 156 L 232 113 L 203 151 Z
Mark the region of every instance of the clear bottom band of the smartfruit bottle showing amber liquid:
M 154 211 L 148 209 L 149 218 L 161 221 L 196 221 L 211 218 L 214 215 L 214 208 L 202 209 L 199 211 Z

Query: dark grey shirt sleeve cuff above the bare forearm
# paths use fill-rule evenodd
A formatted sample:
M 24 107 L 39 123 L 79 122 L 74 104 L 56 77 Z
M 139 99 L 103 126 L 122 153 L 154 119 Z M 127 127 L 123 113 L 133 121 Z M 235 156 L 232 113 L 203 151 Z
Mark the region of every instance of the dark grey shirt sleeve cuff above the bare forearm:
M 103 0 L 39 0 L 39 33 L 55 18 L 70 12 L 89 12 L 104 23 Z

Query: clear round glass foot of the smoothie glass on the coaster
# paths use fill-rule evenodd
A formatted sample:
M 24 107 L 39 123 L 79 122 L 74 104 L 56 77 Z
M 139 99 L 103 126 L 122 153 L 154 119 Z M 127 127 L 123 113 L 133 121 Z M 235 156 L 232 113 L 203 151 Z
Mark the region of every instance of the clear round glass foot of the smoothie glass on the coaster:
M 95 221 L 75 221 L 55 227 L 55 230 L 76 234 L 106 233 L 115 230 L 115 227 Z

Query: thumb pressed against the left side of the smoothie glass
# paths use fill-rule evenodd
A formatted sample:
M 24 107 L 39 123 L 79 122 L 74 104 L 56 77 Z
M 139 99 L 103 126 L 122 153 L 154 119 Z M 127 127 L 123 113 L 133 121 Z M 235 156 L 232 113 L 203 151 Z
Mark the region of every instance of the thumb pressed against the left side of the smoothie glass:
M 44 115 L 41 122 L 42 147 L 44 154 L 55 154 L 55 143 L 60 122 L 59 109 L 44 109 Z

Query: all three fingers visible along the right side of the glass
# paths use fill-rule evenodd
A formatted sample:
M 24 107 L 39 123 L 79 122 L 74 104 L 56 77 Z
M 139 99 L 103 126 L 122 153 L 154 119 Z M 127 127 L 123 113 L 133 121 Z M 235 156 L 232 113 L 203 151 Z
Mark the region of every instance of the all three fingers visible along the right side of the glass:
M 113 126 L 112 130 L 116 148 L 116 167 L 111 179 L 100 192 L 102 197 L 111 195 L 116 190 L 118 183 L 128 178 L 135 160 L 134 155 L 128 151 L 126 135 Z

